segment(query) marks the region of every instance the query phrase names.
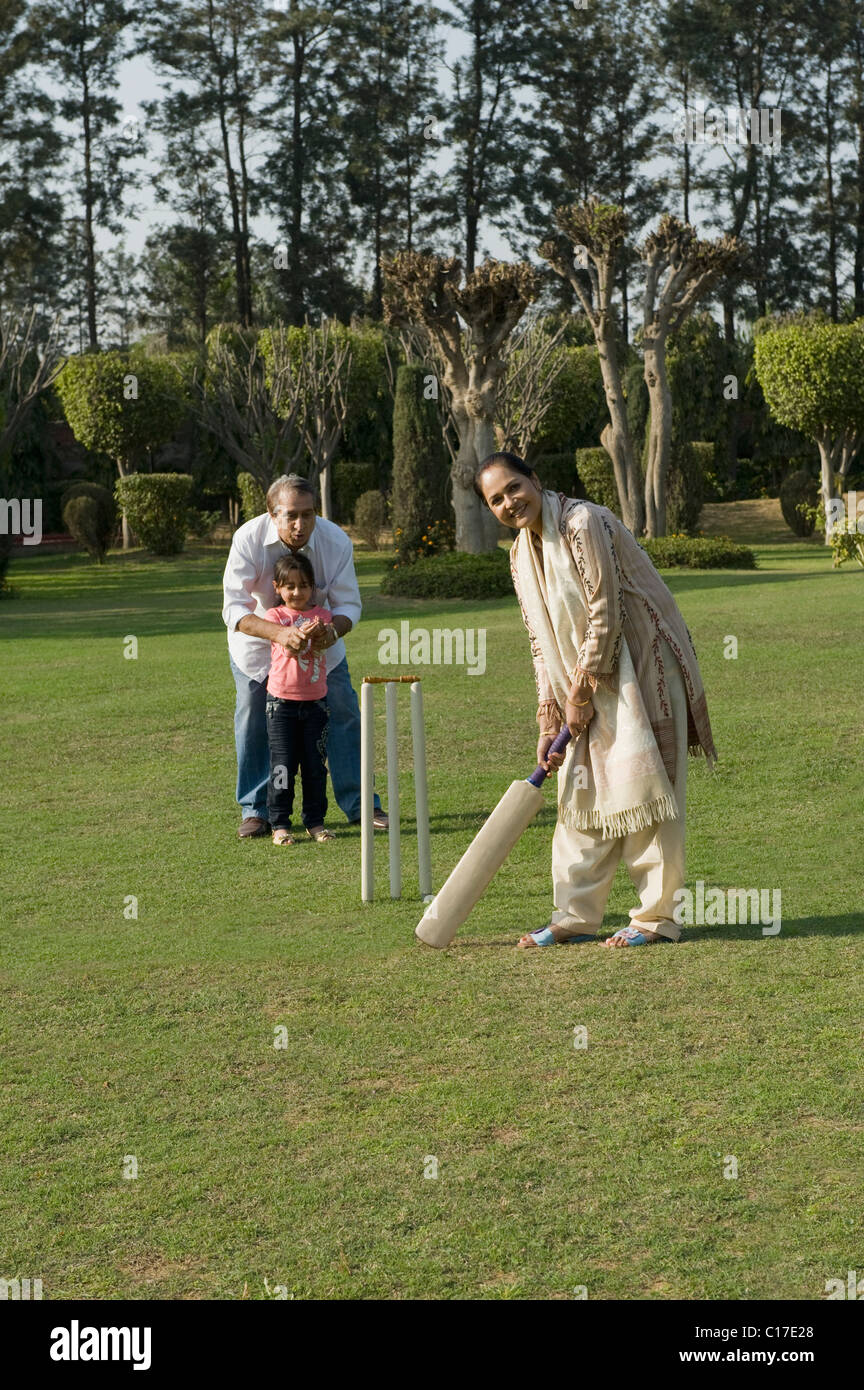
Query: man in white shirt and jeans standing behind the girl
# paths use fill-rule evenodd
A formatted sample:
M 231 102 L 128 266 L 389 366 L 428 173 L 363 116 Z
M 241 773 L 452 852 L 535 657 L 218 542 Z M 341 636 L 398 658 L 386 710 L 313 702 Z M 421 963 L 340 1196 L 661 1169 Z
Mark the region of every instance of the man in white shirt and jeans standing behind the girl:
M 315 571 L 319 603 L 333 621 L 318 634 L 315 646 L 326 652 L 328 769 L 333 796 L 349 821 L 360 820 L 360 706 L 351 685 L 343 637 L 360 621 L 361 603 L 354 550 L 342 527 L 315 516 L 315 492 L 306 478 L 285 474 L 267 492 L 267 512 L 235 531 L 225 566 L 222 617 L 228 628 L 228 655 L 235 678 L 235 744 L 238 749 L 238 802 L 240 840 L 265 835 L 267 783 L 267 676 L 271 642 L 299 651 L 301 634 L 293 627 L 268 623 L 263 613 L 282 602 L 274 588 L 274 564 L 281 555 L 300 552 Z M 375 824 L 388 817 L 375 796 Z

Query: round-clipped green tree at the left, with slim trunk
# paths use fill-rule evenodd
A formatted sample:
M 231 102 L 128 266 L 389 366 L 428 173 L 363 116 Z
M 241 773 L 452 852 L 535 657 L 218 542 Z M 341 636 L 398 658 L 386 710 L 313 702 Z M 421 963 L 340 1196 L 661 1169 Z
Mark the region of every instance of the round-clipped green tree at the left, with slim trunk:
M 78 442 L 114 459 L 121 478 L 139 470 L 147 450 L 172 438 L 188 410 L 178 364 L 167 356 L 68 357 L 57 377 L 57 395 Z M 124 550 L 129 543 L 124 513 Z

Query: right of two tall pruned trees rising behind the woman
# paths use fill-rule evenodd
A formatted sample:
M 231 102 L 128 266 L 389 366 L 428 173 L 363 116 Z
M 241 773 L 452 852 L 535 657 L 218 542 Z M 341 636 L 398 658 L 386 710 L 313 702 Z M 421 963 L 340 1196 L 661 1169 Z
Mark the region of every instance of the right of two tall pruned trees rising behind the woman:
M 722 275 L 739 268 L 746 247 L 733 236 L 700 240 L 676 217 L 663 217 L 642 247 L 645 296 L 642 350 L 651 406 L 645 459 L 645 521 L 649 537 L 665 535 L 665 484 L 672 442 L 672 393 L 665 366 L 670 334 Z

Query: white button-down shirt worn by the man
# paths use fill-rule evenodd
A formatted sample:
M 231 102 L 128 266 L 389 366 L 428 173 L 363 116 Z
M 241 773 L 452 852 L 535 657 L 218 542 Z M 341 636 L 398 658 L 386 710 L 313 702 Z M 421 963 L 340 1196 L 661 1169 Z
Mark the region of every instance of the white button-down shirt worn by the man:
M 269 512 L 246 521 L 235 531 L 231 542 L 222 581 L 222 619 L 228 628 L 231 659 L 254 681 L 265 680 L 269 671 L 269 642 L 263 637 L 238 632 L 238 623 L 249 613 L 264 617 L 268 609 L 279 607 L 282 599 L 274 588 L 274 564 L 289 549 L 279 539 Z M 317 602 L 329 609 L 333 617 L 340 613 L 350 619 L 356 627 L 363 607 L 354 574 L 354 548 L 342 527 L 317 517 L 315 530 L 300 555 L 308 556 L 315 571 Z M 342 638 L 326 648 L 325 657 L 328 671 L 344 660 Z

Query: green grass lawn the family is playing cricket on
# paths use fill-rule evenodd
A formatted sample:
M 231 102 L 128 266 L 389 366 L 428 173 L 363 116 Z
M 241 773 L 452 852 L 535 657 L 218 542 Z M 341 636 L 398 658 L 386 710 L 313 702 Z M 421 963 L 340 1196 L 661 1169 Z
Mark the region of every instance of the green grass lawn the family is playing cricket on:
M 690 762 L 688 881 L 779 888 L 782 933 L 517 952 L 551 906 L 550 788 L 446 954 L 413 935 L 407 773 L 401 902 L 360 903 L 338 813 L 326 847 L 235 838 L 221 552 L 15 562 L 0 1277 L 46 1298 L 817 1300 L 864 1269 L 864 574 L 806 542 L 758 560 L 668 582 L 721 758 Z M 400 617 L 488 632 L 485 676 L 424 677 L 439 885 L 533 766 L 528 644 L 515 599 L 379 598 L 385 563 L 358 557 L 356 684 Z M 378 874 L 386 892 L 386 837 Z M 632 902 L 621 873 L 610 930 Z

